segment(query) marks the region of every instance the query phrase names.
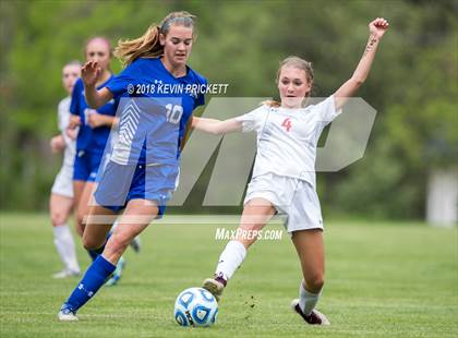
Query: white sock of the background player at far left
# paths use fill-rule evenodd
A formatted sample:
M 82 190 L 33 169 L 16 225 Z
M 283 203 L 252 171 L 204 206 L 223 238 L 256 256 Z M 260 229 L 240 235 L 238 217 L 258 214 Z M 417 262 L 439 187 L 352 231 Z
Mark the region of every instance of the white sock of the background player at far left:
M 67 225 L 52 227 L 55 233 L 55 245 L 62 263 L 68 270 L 80 273 L 80 266 L 76 259 L 75 243 L 70 228 Z

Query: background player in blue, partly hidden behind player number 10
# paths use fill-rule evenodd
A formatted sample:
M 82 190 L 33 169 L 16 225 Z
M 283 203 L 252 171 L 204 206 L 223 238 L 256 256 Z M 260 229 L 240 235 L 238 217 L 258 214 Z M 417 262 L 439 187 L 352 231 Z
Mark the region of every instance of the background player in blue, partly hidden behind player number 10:
M 114 75 L 110 70 L 112 57 L 111 45 L 105 37 L 93 37 L 87 40 L 84 53 L 86 61 L 94 61 L 99 64 L 100 75 L 95 83 L 97 88 L 104 87 Z M 96 177 L 100 165 L 111 126 L 116 123 L 116 111 L 118 100 L 111 99 L 105 105 L 92 109 L 87 102 L 82 79 L 79 79 L 72 92 L 72 101 L 70 105 L 69 132 L 80 126 L 76 137 L 76 156 L 73 171 L 74 203 L 76 210 L 76 232 L 83 236 L 84 217 L 89 212 L 89 201 L 96 186 Z M 98 253 L 88 250 L 93 261 Z M 119 280 L 124 266 L 124 259 L 121 258 L 118 268 L 108 281 L 108 285 L 114 285 Z

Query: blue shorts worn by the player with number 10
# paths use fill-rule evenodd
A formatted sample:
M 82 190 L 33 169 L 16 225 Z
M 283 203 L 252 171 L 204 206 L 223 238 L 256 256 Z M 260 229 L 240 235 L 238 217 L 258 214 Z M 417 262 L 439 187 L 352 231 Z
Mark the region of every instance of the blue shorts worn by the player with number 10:
M 109 161 L 100 174 L 94 197 L 98 205 L 114 213 L 131 200 L 148 200 L 157 204 L 161 217 L 177 188 L 178 166 L 118 165 Z

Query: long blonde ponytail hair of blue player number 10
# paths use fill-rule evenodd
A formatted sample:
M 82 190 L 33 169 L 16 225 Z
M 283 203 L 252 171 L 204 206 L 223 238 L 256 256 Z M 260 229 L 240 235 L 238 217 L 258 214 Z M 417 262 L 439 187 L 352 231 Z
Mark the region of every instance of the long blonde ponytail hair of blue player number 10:
M 189 12 L 172 12 L 160 22 L 160 25 L 152 24 L 145 34 L 136 39 L 119 40 L 114 49 L 114 56 L 122 61 L 124 67 L 131 64 L 137 58 L 155 59 L 164 55 L 164 46 L 160 45 L 159 34 L 167 35 L 171 25 L 182 25 L 194 28 L 195 16 Z

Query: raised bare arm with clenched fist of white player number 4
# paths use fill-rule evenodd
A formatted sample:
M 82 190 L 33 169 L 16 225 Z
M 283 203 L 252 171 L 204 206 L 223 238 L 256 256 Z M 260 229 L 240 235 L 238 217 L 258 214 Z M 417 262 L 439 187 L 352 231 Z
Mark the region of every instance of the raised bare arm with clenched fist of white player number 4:
M 383 17 L 377 17 L 369 24 L 369 41 L 353 75 L 334 93 L 336 110 L 343 107 L 348 98 L 353 96 L 358 88 L 364 83 L 369 71 L 371 70 L 372 62 L 374 61 L 378 44 L 388 29 L 388 22 Z

